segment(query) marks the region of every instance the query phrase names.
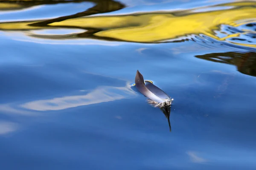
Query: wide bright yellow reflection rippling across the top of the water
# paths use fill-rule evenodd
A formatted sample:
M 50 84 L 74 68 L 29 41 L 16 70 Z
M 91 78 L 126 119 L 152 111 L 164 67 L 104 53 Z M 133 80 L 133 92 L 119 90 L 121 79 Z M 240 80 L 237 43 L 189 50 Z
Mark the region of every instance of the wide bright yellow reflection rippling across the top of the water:
M 111 3 L 109 3 L 111 4 Z M 98 4 L 99 5 L 99 4 Z M 231 8 L 225 8 L 230 6 Z M 191 34 L 205 34 L 215 40 L 227 41 L 230 37 L 239 37 L 241 33 L 216 36 L 221 24 L 237 27 L 247 20 L 256 21 L 256 2 L 236 2 L 214 6 L 222 8 L 218 11 L 195 12 L 194 9 L 172 12 L 151 12 L 116 16 L 87 16 L 74 14 L 72 17 L 61 17 L 61 20 L 49 20 L 44 24 L 40 21 L 0 23 L 2 30 L 34 30 L 46 28 L 82 28 L 84 33 L 65 36 L 64 38 L 87 37 L 95 39 L 119 40 L 128 42 L 161 42 L 175 40 Z M 88 9 L 90 11 L 90 9 Z M 117 8 L 116 8 L 117 10 Z M 85 16 L 85 15 L 84 15 Z M 244 20 L 239 22 L 239 20 Z M 29 25 L 32 23 L 40 23 Z M 87 31 L 90 28 L 90 31 Z M 36 35 L 33 35 L 36 37 Z M 40 38 L 44 36 L 40 35 Z M 54 38 L 54 37 L 47 37 Z M 236 43 L 237 45 L 256 48 L 255 44 Z

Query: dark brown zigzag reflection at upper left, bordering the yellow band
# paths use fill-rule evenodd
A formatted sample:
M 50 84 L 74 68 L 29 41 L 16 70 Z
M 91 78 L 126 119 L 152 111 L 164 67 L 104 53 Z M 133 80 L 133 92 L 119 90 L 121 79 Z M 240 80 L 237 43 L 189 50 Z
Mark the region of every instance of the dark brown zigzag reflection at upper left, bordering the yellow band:
M 117 11 L 122 8 L 125 8 L 125 5 L 122 3 L 116 2 L 114 0 L 6 0 L 4 1 L 5 3 L 10 4 L 9 10 L 13 10 L 11 8 L 11 4 L 18 4 L 20 8 L 28 8 L 31 6 L 37 6 L 37 5 L 43 5 L 43 4 L 58 4 L 58 3 L 81 3 L 81 2 L 91 2 L 95 3 L 95 6 L 92 8 L 87 9 L 86 11 L 78 12 L 76 14 L 71 14 L 67 16 L 62 16 L 62 17 L 57 17 L 54 19 L 50 20 L 43 20 L 43 21 L 38 21 L 35 23 L 28 24 L 27 26 L 31 27 L 31 30 L 33 28 L 37 27 L 55 27 L 55 26 L 49 26 L 48 24 L 55 23 L 55 22 L 61 22 L 64 20 L 68 19 L 74 19 L 78 17 L 84 17 L 84 16 L 89 16 L 93 14 L 101 14 L 101 13 L 107 13 L 111 11 Z M 3 1 L 0 2 L 0 4 L 3 3 Z M 0 6 L 1 7 L 1 6 Z M 17 8 L 16 8 L 17 9 Z M 24 22 L 24 24 L 26 24 Z M 56 26 L 58 28 L 58 26 Z M 87 37 L 87 38 L 95 38 L 95 39 L 101 39 L 95 37 L 93 34 L 96 32 L 102 31 L 102 29 L 97 29 L 97 28 L 82 28 L 79 26 L 62 26 L 61 28 L 81 28 L 85 29 L 85 32 L 79 33 L 79 34 L 72 34 L 70 36 L 58 36 L 58 35 L 53 35 L 53 36 L 45 36 L 45 35 L 31 35 L 32 37 L 39 37 L 39 38 L 54 38 L 54 39 L 67 39 L 67 38 L 74 38 L 74 37 Z M 105 38 L 105 40 L 112 40 L 112 38 Z

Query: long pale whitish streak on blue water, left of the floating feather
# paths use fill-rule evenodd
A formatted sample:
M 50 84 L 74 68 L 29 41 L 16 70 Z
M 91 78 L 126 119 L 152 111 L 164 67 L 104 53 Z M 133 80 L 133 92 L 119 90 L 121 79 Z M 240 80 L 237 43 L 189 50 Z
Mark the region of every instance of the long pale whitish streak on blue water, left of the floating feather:
M 125 87 L 102 86 L 87 93 L 86 95 L 35 100 L 24 103 L 20 106 L 35 111 L 57 111 L 78 106 L 127 99 L 135 95 L 137 94 L 131 89 L 131 85 L 127 83 Z

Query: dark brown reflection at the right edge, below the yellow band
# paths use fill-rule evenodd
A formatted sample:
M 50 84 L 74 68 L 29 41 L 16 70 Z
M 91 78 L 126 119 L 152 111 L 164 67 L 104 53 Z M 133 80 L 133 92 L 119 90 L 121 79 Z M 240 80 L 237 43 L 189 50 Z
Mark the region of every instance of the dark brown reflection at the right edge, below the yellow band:
M 256 77 L 256 53 L 212 53 L 195 56 L 197 58 L 206 59 L 213 62 L 226 63 L 236 65 L 239 72 Z

